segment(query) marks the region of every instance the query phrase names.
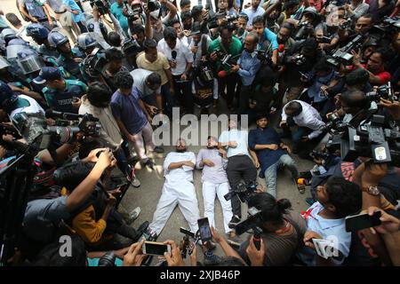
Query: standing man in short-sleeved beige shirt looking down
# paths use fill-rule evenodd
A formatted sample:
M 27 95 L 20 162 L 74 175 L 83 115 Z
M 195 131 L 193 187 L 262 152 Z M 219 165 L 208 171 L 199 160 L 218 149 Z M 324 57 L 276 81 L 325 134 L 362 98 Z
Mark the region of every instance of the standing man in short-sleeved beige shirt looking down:
M 163 96 L 164 114 L 172 114 L 174 106 L 173 82 L 171 67 L 166 56 L 157 51 L 157 43 L 154 39 L 146 39 L 143 43 L 144 52 L 140 53 L 136 59 L 139 68 L 156 72 L 161 76 L 161 94 Z

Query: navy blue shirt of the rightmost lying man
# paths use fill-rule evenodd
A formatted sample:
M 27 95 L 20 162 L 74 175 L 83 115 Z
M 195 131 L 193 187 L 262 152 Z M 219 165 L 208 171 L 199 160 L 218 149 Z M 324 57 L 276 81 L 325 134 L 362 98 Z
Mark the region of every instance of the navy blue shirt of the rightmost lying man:
M 261 166 L 260 177 L 264 177 L 265 171 L 276 163 L 283 154 L 287 153 L 281 147 L 278 147 L 275 151 L 270 149 L 255 150 L 257 144 L 276 144 L 279 146 L 281 138 L 279 138 L 274 128 L 268 126 L 265 129 L 258 127 L 256 130 L 250 130 L 249 132 L 249 147 L 256 152 Z

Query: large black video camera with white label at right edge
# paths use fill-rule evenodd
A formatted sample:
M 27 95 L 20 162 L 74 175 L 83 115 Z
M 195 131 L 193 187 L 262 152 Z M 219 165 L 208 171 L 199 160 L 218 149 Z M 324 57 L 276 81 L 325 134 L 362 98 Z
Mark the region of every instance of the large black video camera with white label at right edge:
M 388 162 L 400 166 L 400 135 L 397 129 L 384 129 L 383 115 L 373 114 L 372 119 L 359 125 L 343 127 L 333 134 L 327 146 L 340 145 L 341 159 L 354 162 L 357 157 L 371 157 L 374 163 Z

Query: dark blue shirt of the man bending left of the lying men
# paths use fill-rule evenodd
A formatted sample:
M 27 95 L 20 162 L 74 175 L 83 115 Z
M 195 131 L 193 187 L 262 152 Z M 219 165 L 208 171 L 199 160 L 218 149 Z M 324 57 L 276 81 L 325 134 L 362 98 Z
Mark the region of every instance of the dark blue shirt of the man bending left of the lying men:
M 139 92 L 133 87 L 129 96 L 116 91 L 111 98 L 111 110 L 116 119 L 124 122 L 126 130 L 132 135 L 145 127 L 148 120 L 139 105 Z

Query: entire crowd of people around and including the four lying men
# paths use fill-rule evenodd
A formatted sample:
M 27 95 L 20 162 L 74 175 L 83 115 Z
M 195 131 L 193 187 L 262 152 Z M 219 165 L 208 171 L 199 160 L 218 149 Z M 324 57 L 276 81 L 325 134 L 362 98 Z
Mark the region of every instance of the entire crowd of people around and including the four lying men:
M 400 264 L 400 1 L 17 7 L 19 14 L 0 11 L 0 168 L 19 167 L 24 154 L 31 170 L 27 183 L 13 184 L 28 186 L 22 208 L 10 202 L 13 172 L 2 172 L 0 236 L 18 235 L 2 262 L 148 265 L 143 238 L 156 241 L 177 206 L 199 231 L 193 172 L 202 170 L 212 241 L 158 238 L 171 248 L 161 265 L 185 265 L 187 251 L 193 266 Z M 171 118 L 174 107 L 180 115 L 239 115 L 198 154 L 183 138 L 164 154 L 152 122 Z M 250 130 L 241 128 L 244 115 Z M 154 170 L 153 154 L 164 156 L 161 197 L 153 220 L 133 227 L 143 205 L 128 216 L 118 205 L 131 185 L 146 188 L 135 165 Z M 300 172 L 294 155 L 314 168 Z M 299 193 L 310 189 L 300 214 L 277 199 L 283 169 Z M 215 229 L 216 197 L 224 233 Z M 13 209 L 23 210 L 13 213 L 21 220 L 10 217 Z M 378 225 L 348 230 L 348 217 L 376 212 Z M 246 219 L 257 219 L 248 238 L 236 230 Z M 18 234 L 7 235 L 11 228 Z M 71 240 L 71 256 L 60 255 L 61 236 Z M 331 254 L 321 252 L 323 242 Z M 216 245 L 224 256 L 213 253 Z

